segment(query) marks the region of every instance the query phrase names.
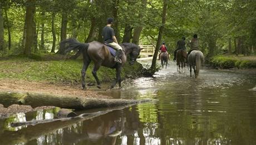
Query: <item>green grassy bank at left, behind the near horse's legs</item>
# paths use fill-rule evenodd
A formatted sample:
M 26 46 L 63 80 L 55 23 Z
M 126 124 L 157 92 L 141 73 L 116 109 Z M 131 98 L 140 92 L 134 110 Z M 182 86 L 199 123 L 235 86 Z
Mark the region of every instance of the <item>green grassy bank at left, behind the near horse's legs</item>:
M 52 60 L 52 59 L 51 59 Z M 0 61 L 0 79 L 22 79 L 28 81 L 81 81 L 82 60 L 42 61 L 41 57 L 9 57 Z M 92 76 L 93 63 L 86 71 L 86 81 L 94 83 Z M 134 78 L 142 75 L 142 65 L 126 64 L 122 70 L 122 78 Z M 115 69 L 101 67 L 97 72 L 102 82 L 112 81 L 116 76 Z

